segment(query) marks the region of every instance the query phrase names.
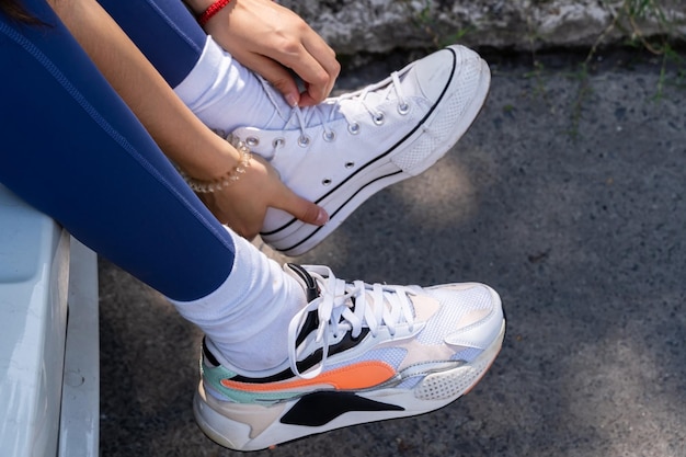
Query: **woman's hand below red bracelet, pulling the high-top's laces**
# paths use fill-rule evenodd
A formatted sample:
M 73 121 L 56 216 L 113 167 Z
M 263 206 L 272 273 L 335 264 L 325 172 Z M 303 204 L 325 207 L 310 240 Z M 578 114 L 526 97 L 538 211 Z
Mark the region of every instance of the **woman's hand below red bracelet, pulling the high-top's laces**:
M 201 13 L 211 1 L 188 3 Z M 272 0 L 231 0 L 207 22 L 205 31 L 238 61 L 270 81 L 291 106 L 323 101 L 341 71 L 335 53 L 317 32 Z M 302 79 L 302 93 L 288 69 Z

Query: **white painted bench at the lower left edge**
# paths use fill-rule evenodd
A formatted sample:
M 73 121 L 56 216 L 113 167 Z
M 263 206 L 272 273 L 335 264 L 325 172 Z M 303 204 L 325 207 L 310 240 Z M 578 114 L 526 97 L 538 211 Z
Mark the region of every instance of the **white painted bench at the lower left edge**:
M 96 255 L 0 185 L 0 454 L 99 454 Z

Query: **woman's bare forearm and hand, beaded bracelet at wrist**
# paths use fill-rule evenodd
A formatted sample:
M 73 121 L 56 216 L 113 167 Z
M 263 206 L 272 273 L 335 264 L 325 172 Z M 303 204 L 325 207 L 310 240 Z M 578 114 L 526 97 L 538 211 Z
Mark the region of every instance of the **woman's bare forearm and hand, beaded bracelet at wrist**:
M 164 153 L 187 174 L 213 181 L 239 164 L 236 148 L 195 117 L 96 1 L 48 2 Z M 245 237 L 259 232 L 267 206 L 308 224 L 328 219 L 323 209 L 287 188 L 260 158 L 206 204 L 221 222 Z

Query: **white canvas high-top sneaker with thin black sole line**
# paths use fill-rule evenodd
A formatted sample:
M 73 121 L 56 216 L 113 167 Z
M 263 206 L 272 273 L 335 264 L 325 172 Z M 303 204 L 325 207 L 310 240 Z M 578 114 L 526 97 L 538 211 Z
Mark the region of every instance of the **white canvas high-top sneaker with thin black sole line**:
M 371 195 L 425 171 L 467 132 L 490 81 L 485 61 L 455 45 L 316 106 L 291 108 L 265 84 L 276 113 L 270 125 L 241 127 L 231 136 L 270 160 L 284 183 L 324 207 L 330 220 L 316 227 L 270 208 L 262 239 L 300 255 Z

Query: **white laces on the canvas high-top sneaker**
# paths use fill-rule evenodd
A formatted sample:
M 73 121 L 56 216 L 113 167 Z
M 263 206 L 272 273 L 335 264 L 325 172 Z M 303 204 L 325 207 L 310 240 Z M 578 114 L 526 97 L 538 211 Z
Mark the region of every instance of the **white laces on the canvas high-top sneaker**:
M 404 69 L 403 73 L 409 71 L 411 67 Z M 400 114 L 404 114 L 409 111 L 409 105 L 407 102 L 407 98 L 402 90 L 401 81 L 400 81 L 400 72 L 393 71 L 388 78 L 382 81 L 379 81 L 375 84 L 367 85 L 364 89 L 361 89 L 355 92 L 344 93 L 336 98 L 327 99 L 324 102 L 315 105 L 315 106 L 306 106 L 299 107 L 295 106 L 290 108 L 290 115 L 287 116 L 286 123 L 284 127 L 295 124 L 300 130 L 299 141 L 301 146 L 306 146 L 309 142 L 309 138 L 307 137 L 305 130 L 308 127 L 308 124 L 311 124 L 312 121 L 319 122 L 323 129 L 323 136 L 327 141 L 332 141 L 335 138 L 335 132 L 329 128 L 329 123 L 335 119 L 336 113 L 343 113 L 344 111 L 339 110 L 339 106 L 344 101 L 358 101 L 359 105 L 363 106 L 367 113 L 371 116 L 375 124 L 380 125 L 384 123 L 385 113 L 376 110 L 367 99 L 369 94 L 376 94 L 376 102 L 378 103 L 381 100 L 386 100 L 388 94 L 391 91 L 396 93 L 396 100 L 398 101 L 398 112 Z M 279 106 L 283 106 L 283 103 L 277 103 L 274 99 L 275 96 L 282 96 L 266 80 L 263 78 L 259 78 L 264 87 L 264 91 L 270 98 L 272 104 L 278 110 Z M 380 89 L 384 89 L 379 91 Z M 377 91 L 379 91 L 377 93 Z M 327 113 L 328 111 L 328 113 Z M 348 119 L 348 130 L 351 133 L 356 133 L 356 129 L 359 128 L 358 125 L 354 121 Z

